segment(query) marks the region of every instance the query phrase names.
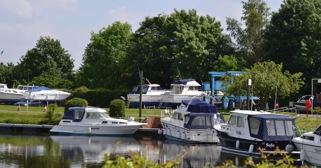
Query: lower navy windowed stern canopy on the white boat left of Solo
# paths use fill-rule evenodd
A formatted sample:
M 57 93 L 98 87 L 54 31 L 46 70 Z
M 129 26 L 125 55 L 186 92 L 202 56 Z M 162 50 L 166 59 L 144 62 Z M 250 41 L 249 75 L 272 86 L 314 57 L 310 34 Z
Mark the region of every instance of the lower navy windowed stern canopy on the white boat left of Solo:
M 214 115 L 213 113 L 188 113 L 184 115 L 184 127 L 187 129 L 214 129 Z M 220 116 L 221 121 L 225 122 L 224 116 L 217 116 Z

